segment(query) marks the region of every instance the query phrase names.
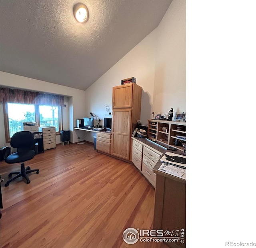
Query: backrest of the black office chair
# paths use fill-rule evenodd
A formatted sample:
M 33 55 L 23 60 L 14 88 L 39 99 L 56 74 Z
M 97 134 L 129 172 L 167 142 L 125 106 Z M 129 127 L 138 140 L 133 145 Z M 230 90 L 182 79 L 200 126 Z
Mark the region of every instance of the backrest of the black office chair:
M 34 144 L 34 134 L 29 131 L 16 132 L 11 138 L 11 146 L 17 148 L 18 153 L 31 150 Z

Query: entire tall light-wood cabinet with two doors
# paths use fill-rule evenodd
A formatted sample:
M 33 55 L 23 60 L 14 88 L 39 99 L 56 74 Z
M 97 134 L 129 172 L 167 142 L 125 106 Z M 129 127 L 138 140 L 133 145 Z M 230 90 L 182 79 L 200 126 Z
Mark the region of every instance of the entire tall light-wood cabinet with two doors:
M 140 120 L 142 88 L 130 83 L 113 87 L 112 148 L 114 156 L 131 160 L 131 136 Z

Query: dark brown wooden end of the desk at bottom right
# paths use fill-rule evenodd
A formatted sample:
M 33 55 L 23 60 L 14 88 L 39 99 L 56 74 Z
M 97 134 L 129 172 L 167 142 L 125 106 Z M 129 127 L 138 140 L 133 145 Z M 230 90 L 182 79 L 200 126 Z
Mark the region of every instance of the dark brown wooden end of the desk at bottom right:
M 177 242 L 167 242 L 172 248 L 186 247 L 186 180 L 160 172 L 162 163 L 158 161 L 153 172 L 156 173 L 155 205 L 153 229 L 163 229 L 178 233 Z M 184 235 L 184 236 L 183 236 Z M 170 235 L 168 235 L 170 236 Z M 183 243 L 182 243 L 183 242 Z

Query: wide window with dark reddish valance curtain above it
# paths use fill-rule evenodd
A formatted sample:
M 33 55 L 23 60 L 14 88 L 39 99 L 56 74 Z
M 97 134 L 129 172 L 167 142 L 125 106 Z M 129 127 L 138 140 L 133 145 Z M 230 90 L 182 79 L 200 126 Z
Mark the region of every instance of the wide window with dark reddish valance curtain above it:
M 22 130 L 21 122 L 55 126 L 56 134 L 60 134 L 64 96 L 0 88 L 0 101 L 4 103 L 6 143 L 15 132 Z

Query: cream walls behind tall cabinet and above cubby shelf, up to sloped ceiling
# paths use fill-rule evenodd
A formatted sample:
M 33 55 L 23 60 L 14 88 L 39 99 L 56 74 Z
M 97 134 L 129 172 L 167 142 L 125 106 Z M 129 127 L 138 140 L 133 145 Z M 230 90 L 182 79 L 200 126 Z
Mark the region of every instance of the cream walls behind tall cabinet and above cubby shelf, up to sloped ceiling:
M 186 111 L 185 0 L 173 0 L 159 26 L 86 90 L 86 113 L 104 118 L 112 87 L 130 77 L 143 89 L 142 124 L 147 124 L 152 112 Z M 93 134 L 86 139 L 92 142 Z

